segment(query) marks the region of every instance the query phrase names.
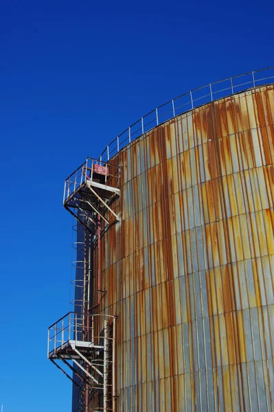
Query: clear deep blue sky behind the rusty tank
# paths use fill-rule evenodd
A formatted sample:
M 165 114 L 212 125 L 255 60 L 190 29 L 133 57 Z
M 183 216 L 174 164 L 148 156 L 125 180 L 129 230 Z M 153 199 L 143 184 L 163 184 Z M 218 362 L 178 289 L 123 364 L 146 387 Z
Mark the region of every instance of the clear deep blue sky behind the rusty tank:
M 71 409 L 46 353 L 47 326 L 69 309 L 65 177 L 166 100 L 274 65 L 273 1 L 220 4 L 1 0 L 4 412 Z

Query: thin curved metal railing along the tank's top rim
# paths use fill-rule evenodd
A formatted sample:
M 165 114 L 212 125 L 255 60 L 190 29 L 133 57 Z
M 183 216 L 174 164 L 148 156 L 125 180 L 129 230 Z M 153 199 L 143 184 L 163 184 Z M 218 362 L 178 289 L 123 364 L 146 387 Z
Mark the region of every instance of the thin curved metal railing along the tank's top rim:
M 214 102 L 214 100 L 225 98 L 229 95 L 240 93 L 248 89 L 253 89 L 254 87 L 265 86 L 273 81 L 274 66 L 250 71 L 249 73 L 243 73 L 188 91 L 169 102 L 161 104 L 161 106 L 150 111 L 148 114 L 141 117 L 141 119 L 137 120 L 137 122 L 126 128 L 123 133 L 113 139 L 113 141 L 106 146 L 104 152 L 102 152 L 102 155 L 100 156 L 100 161 L 109 161 L 111 157 L 130 144 L 131 141 L 144 135 L 144 133 L 152 130 L 155 126 L 167 122 L 173 117 L 191 111 L 193 108 L 203 106 L 203 104 Z

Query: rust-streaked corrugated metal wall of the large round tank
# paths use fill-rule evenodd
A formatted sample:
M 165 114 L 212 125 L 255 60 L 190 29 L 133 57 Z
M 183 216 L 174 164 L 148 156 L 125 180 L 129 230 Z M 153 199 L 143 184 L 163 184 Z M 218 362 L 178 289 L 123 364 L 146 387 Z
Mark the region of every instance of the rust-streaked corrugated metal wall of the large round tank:
M 273 124 L 269 85 L 112 159 L 122 222 L 102 237 L 100 310 L 119 315 L 117 411 L 273 411 Z

